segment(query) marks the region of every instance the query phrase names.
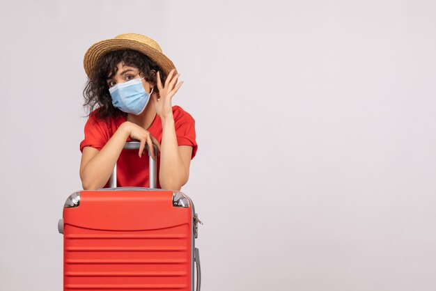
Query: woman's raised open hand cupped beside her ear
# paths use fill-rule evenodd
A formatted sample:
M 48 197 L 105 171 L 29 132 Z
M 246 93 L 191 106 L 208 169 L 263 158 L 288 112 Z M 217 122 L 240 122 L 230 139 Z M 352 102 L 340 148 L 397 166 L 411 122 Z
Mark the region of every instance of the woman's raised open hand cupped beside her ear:
M 156 79 L 159 93 L 153 93 L 151 95 L 156 113 L 162 119 L 173 116 L 173 105 L 171 104 L 171 99 L 183 84 L 183 81 L 177 84 L 180 74 L 174 74 L 174 72 L 176 72 L 176 69 L 173 69 L 171 72 L 169 72 L 168 77 L 166 77 L 164 84 L 165 86 L 162 85 L 162 81 L 160 81 L 160 74 L 157 72 Z

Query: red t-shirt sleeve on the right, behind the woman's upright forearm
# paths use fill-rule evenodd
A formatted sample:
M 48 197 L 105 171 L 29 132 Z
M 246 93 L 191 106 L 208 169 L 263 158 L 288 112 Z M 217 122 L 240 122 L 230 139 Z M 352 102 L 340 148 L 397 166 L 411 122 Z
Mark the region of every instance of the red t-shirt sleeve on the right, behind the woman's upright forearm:
M 194 159 L 198 148 L 195 135 L 195 120 L 189 113 L 180 107 L 175 107 L 176 108 L 173 111 L 173 115 L 177 143 L 179 146 L 192 146 L 191 159 Z

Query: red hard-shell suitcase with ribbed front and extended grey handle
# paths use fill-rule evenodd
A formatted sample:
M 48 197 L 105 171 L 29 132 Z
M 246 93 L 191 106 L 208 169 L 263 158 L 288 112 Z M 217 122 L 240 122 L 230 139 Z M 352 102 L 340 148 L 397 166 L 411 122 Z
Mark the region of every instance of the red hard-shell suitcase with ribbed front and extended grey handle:
M 127 150 L 139 142 L 127 142 Z M 155 148 L 157 152 L 157 148 Z M 148 151 L 149 152 L 149 151 Z M 180 191 L 111 187 L 70 195 L 59 220 L 63 233 L 63 290 L 200 290 L 195 248 L 198 220 L 194 204 Z

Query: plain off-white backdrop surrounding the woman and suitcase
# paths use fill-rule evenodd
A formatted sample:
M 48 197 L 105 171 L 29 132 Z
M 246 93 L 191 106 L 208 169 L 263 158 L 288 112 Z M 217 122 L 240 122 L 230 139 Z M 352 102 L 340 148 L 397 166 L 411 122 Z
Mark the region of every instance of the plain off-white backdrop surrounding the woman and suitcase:
M 436 290 L 435 1 L 2 1 L 0 290 L 61 290 L 83 56 L 185 81 L 203 290 Z

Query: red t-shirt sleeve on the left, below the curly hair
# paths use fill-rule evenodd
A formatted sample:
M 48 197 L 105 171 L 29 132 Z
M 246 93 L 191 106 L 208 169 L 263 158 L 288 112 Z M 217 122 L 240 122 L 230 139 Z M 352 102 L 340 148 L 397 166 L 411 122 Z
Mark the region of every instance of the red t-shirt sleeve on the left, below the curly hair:
M 83 152 L 86 146 L 92 146 L 93 148 L 101 150 L 111 138 L 107 123 L 95 118 L 93 113 L 89 115 L 88 121 L 86 121 L 84 133 L 85 138 L 80 143 L 81 152 Z

